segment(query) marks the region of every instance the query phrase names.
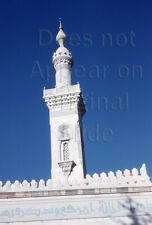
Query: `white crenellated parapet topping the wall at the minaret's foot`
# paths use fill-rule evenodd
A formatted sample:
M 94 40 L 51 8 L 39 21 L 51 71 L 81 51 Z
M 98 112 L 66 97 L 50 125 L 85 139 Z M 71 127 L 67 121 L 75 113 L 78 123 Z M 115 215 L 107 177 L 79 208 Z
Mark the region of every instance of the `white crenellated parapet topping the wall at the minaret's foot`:
M 39 182 L 24 180 L 20 183 L 7 181 L 4 185 L 0 181 L 0 192 L 29 192 L 29 191 L 49 191 L 49 190 L 69 190 L 69 189 L 96 189 L 96 188 L 119 188 L 119 187 L 143 187 L 151 186 L 152 182 L 146 171 L 145 164 L 140 171 L 134 168 L 131 171 L 126 169 L 124 172 L 118 170 L 116 174 L 110 171 L 108 174 L 102 172 L 100 175 L 95 173 L 93 176 L 86 175 L 82 180 L 63 180 L 55 181 L 48 179 L 46 182 L 41 179 Z

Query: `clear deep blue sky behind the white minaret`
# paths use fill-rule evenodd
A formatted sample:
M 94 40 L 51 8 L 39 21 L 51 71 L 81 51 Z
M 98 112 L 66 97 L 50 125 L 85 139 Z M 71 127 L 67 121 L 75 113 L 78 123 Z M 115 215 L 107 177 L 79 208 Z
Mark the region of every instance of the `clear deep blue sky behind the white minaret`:
M 0 6 L 0 180 L 47 180 L 52 54 L 62 17 L 86 102 L 87 172 L 152 176 L 152 2 L 5 0 Z

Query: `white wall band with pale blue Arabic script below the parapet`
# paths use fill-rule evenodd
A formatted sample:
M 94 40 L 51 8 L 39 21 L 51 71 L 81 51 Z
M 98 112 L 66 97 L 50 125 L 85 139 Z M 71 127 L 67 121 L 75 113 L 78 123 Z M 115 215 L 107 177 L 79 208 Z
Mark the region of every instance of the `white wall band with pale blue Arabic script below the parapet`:
M 149 225 L 152 192 L 0 199 L 0 223 Z

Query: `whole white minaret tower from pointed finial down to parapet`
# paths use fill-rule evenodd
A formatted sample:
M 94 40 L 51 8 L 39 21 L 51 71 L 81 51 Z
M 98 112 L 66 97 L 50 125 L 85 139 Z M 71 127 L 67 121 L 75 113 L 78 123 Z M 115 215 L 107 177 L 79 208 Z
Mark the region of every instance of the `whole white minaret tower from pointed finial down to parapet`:
M 51 175 L 53 180 L 80 180 L 85 176 L 82 117 L 85 106 L 80 85 L 72 85 L 72 55 L 64 46 L 66 35 L 60 20 L 56 36 L 59 48 L 53 54 L 56 86 L 44 89 L 51 131 Z

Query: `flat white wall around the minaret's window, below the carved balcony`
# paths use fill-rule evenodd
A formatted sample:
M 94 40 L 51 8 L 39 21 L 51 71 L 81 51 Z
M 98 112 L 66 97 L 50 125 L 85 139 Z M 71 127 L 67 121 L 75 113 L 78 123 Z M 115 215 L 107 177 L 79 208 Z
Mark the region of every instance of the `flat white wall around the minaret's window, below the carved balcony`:
M 53 114 L 53 115 L 52 115 Z M 58 115 L 60 114 L 60 115 Z M 59 116 L 59 117 L 58 117 Z M 62 125 L 68 126 L 67 143 L 69 148 L 69 160 L 74 161 L 76 166 L 70 175 L 70 178 L 77 179 L 84 178 L 83 174 L 83 160 L 82 160 L 82 146 L 80 138 L 80 127 L 78 112 L 76 108 L 70 110 L 62 110 L 62 112 L 50 113 L 51 120 L 51 154 L 52 154 L 52 179 L 63 181 L 64 176 L 62 169 L 58 162 L 63 161 L 61 157 L 61 145 L 64 139 L 59 137 L 59 127 Z M 66 139 L 65 139 L 66 140 Z

